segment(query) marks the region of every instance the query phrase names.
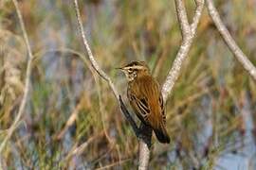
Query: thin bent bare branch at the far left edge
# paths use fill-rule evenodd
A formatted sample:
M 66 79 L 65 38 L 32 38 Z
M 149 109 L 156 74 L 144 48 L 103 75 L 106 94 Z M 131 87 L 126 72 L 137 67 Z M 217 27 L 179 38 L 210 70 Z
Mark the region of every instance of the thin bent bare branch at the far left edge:
M 20 119 L 21 119 L 21 117 L 24 113 L 24 109 L 25 109 L 26 104 L 27 104 L 27 94 L 28 94 L 28 90 L 29 90 L 29 78 L 30 78 L 30 75 L 31 75 L 31 63 L 32 63 L 32 59 L 33 59 L 32 51 L 31 51 L 31 48 L 30 48 L 30 45 L 29 45 L 29 42 L 28 42 L 28 38 L 27 38 L 27 31 L 26 31 L 26 28 L 25 28 L 25 25 L 24 25 L 24 21 L 23 21 L 23 18 L 22 18 L 20 8 L 18 6 L 18 2 L 17 2 L 17 0 L 12 0 L 12 2 L 15 6 L 15 9 L 16 9 L 16 12 L 17 12 L 17 15 L 18 15 L 18 19 L 19 19 L 19 22 L 20 22 L 20 25 L 21 25 L 21 28 L 22 28 L 23 37 L 24 37 L 25 42 L 26 42 L 27 52 L 28 52 L 28 60 L 27 60 L 25 89 L 24 89 L 24 95 L 23 95 L 23 98 L 22 98 L 22 101 L 21 101 L 21 105 L 20 105 L 20 108 L 18 110 L 18 114 L 15 117 L 15 120 L 14 120 L 13 124 L 11 125 L 11 127 L 9 127 L 7 136 L 5 137 L 5 139 L 3 140 L 3 142 L 0 145 L 0 153 L 5 148 L 9 138 L 11 137 L 12 133 L 14 132 L 15 128 L 17 127 L 17 125 L 18 125 L 18 123 L 19 123 L 19 121 L 20 121 Z

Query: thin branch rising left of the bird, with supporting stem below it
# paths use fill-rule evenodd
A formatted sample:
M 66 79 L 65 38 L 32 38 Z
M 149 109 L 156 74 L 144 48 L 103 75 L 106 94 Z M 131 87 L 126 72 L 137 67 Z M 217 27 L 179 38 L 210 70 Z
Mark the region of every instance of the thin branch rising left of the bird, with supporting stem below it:
M 131 114 L 129 113 L 129 111 L 126 109 L 126 107 L 124 106 L 121 96 L 119 95 L 114 83 L 112 82 L 112 80 L 110 79 L 109 76 L 107 76 L 104 71 L 101 69 L 100 65 L 98 64 L 98 62 L 96 61 L 96 59 L 94 58 L 90 46 L 86 40 L 85 34 L 84 34 L 84 30 L 83 30 L 83 26 L 82 26 L 82 17 L 79 11 L 79 6 L 78 6 L 78 1 L 74 0 L 74 7 L 76 9 L 76 16 L 77 16 L 77 20 L 78 20 L 78 24 L 79 24 L 79 29 L 80 32 L 82 34 L 82 41 L 83 44 L 85 46 L 85 49 L 87 51 L 89 60 L 93 66 L 93 68 L 97 71 L 97 73 L 107 81 L 108 85 L 110 86 L 111 90 L 113 91 L 113 93 L 115 94 L 116 99 L 119 102 L 119 108 L 122 111 L 122 113 L 124 114 L 125 118 L 127 119 L 127 121 L 129 122 L 129 124 L 133 127 L 133 130 L 135 131 L 138 139 L 139 139 L 139 169 L 147 169 L 148 167 L 148 163 L 149 163 L 149 158 L 150 158 L 150 144 L 151 144 L 151 136 L 152 136 L 152 129 L 145 129 L 146 127 L 137 127 L 137 124 L 135 122 L 135 120 L 133 119 L 133 117 L 131 116 Z M 148 133 L 150 130 L 151 133 Z

